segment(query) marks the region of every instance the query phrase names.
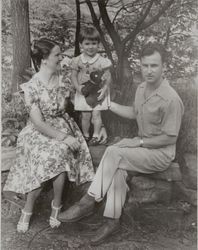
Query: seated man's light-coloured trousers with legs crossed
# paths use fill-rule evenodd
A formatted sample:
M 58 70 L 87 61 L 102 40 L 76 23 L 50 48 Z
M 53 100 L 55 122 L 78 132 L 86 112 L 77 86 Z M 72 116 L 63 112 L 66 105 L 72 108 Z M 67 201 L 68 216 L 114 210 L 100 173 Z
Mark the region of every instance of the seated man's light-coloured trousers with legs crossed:
M 98 166 L 88 194 L 97 202 L 107 195 L 104 216 L 118 219 L 126 200 L 127 171 L 151 174 L 164 171 L 172 159 L 159 149 L 109 146 Z

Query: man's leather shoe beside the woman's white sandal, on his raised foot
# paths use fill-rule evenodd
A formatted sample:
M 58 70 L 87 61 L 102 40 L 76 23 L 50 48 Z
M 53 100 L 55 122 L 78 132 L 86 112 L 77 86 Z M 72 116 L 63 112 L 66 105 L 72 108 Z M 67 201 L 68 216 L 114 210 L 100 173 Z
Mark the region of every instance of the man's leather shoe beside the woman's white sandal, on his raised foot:
M 66 211 L 59 213 L 58 220 L 61 222 L 76 222 L 94 212 L 94 202 L 87 204 L 78 202 Z

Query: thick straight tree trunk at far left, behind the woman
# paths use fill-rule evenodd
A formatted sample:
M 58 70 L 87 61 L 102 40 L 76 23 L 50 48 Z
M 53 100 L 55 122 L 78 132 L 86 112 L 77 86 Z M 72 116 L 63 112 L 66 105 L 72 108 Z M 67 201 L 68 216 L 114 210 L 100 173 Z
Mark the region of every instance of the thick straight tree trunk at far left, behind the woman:
M 12 91 L 22 83 L 22 75 L 31 66 L 28 0 L 11 1 L 13 36 Z

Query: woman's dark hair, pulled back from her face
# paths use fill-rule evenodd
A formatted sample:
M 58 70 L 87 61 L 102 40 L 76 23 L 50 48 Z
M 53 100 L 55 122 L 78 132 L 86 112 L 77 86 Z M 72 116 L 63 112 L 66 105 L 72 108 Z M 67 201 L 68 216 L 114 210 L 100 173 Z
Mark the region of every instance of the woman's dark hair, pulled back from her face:
M 47 59 L 56 45 L 58 43 L 47 38 L 41 38 L 32 42 L 31 57 L 36 71 L 40 68 L 41 60 Z

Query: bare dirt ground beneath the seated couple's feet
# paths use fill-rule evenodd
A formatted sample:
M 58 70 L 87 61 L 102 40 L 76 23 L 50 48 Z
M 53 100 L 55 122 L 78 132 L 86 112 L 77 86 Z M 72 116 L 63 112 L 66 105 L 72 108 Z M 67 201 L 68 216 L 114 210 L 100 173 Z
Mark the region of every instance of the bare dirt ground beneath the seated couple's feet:
M 4 176 L 3 176 L 4 177 Z M 78 223 L 63 223 L 58 229 L 48 226 L 52 190 L 44 190 L 35 204 L 35 214 L 26 234 L 16 231 L 20 205 L 10 203 L 2 196 L 1 249 L 2 250 L 196 250 L 196 208 L 184 201 L 171 204 L 127 205 L 121 220 L 121 230 L 98 247 L 91 247 L 89 239 L 105 219 L 103 204 L 94 216 Z M 23 202 L 22 202 L 23 203 Z M 64 208 L 73 203 L 67 200 Z M 20 202 L 18 202 L 20 204 Z M 187 209 L 186 209 L 187 208 Z

